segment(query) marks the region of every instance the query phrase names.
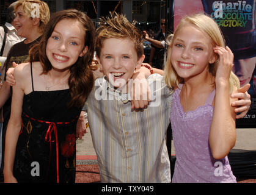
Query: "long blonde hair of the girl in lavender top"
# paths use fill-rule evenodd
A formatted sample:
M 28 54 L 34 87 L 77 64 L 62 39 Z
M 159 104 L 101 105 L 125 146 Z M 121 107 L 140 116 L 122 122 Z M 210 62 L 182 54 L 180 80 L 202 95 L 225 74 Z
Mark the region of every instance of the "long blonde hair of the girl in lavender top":
M 196 14 L 196 15 L 186 16 L 185 18 L 181 19 L 180 23 L 178 24 L 174 32 L 174 35 L 169 35 L 169 39 L 171 38 L 172 40 L 169 41 L 170 44 L 169 44 L 169 49 L 167 54 L 167 61 L 166 61 L 166 66 L 164 68 L 164 79 L 166 81 L 166 84 L 172 88 L 178 87 L 178 84 L 183 83 L 184 80 L 183 78 L 178 76 L 175 69 L 172 67 L 172 63 L 170 61 L 170 52 L 173 46 L 173 40 L 175 40 L 175 37 L 177 36 L 178 31 L 188 23 L 194 25 L 197 29 L 209 35 L 209 37 L 213 42 L 213 45 L 218 45 L 225 48 L 225 39 L 223 37 L 221 29 L 219 28 L 218 24 L 214 21 L 214 19 L 210 18 L 210 16 L 207 16 L 204 14 Z M 219 63 L 219 57 L 214 63 L 212 63 L 209 66 L 209 72 L 214 77 L 216 76 L 216 68 L 218 66 L 218 63 Z M 229 84 L 230 84 L 230 93 L 232 93 L 234 85 L 237 88 L 240 88 L 240 81 L 233 72 L 231 72 L 230 74 Z

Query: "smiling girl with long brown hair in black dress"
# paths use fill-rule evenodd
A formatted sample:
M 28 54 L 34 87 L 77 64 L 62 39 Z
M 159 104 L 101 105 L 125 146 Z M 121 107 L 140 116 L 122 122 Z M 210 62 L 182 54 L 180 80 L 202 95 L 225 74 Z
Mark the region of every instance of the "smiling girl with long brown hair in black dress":
M 76 122 L 93 86 L 94 31 L 84 13 L 56 12 L 31 62 L 15 68 L 4 182 L 75 182 Z

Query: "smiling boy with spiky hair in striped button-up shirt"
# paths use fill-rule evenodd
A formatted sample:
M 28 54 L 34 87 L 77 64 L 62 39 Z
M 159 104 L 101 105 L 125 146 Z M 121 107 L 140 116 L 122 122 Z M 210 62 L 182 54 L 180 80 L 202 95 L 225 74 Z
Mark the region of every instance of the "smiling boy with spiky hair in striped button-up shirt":
M 143 112 L 131 112 L 127 93 L 145 57 L 142 35 L 125 16 L 113 14 L 101 21 L 96 51 L 105 76 L 95 81 L 87 112 L 101 182 L 170 182 L 166 130 L 172 93 L 159 74 L 147 79 L 155 99 Z

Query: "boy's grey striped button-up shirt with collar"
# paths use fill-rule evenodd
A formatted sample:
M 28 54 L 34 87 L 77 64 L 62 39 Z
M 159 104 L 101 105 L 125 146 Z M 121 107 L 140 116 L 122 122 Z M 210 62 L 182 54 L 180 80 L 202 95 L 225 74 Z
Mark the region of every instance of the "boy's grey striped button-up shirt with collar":
M 170 182 L 166 147 L 172 91 L 159 74 L 148 77 L 152 102 L 131 112 L 129 95 L 97 79 L 87 99 L 101 182 Z

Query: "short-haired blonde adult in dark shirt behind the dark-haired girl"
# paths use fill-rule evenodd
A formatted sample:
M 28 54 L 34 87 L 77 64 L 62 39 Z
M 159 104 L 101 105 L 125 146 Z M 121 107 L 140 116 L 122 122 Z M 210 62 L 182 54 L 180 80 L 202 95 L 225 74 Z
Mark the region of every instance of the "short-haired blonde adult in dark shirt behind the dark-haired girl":
M 46 24 L 49 21 L 49 7 L 46 2 L 40 0 L 19 0 L 15 4 L 16 17 L 13 19 L 13 23 L 16 26 L 17 34 L 20 37 L 24 37 L 25 40 L 20 43 L 16 43 L 10 49 L 7 55 L 7 60 L 4 65 L 5 73 L 8 68 L 12 67 L 13 63 L 20 64 L 29 62 L 29 49 L 35 43 L 40 41 Z M 6 77 L 6 75 L 5 75 Z M 5 82 L 0 88 L 0 107 L 3 108 L 4 122 L 2 126 L 2 151 L 4 151 L 5 144 L 5 132 L 7 124 L 10 118 L 10 106 L 11 106 L 11 87 Z M 4 163 L 4 154 L 2 154 L 2 165 L 0 172 L 0 181 L 2 177 L 2 169 Z

